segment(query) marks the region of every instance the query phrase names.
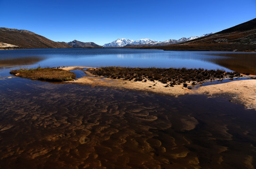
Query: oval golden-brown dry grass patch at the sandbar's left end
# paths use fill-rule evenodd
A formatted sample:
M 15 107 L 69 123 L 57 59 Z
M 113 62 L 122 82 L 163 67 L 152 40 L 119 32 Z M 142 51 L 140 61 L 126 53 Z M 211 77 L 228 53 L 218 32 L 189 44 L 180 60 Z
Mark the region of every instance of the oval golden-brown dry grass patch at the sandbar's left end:
M 75 79 L 73 72 L 55 68 L 17 69 L 11 70 L 10 74 L 17 77 L 50 82 L 63 82 Z

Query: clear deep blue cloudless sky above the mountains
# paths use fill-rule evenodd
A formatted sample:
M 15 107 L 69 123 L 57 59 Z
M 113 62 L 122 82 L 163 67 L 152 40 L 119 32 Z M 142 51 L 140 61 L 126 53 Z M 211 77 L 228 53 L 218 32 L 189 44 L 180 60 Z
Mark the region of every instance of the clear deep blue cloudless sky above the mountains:
M 54 41 L 201 36 L 256 18 L 256 0 L 0 0 L 0 27 Z

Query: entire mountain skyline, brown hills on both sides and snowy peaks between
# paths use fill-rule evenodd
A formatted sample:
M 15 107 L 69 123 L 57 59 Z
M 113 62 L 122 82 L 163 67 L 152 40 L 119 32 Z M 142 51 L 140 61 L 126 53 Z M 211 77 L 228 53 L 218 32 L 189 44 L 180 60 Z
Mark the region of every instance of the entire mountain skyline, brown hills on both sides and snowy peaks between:
M 102 47 L 93 42 L 54 42 L 31 31 L 0 28 L 0 49 Z M 234 27 L 201 37 L 169 39 L 117 39 L 103 47 L 163 50 L 256 51 L 256 18 Z

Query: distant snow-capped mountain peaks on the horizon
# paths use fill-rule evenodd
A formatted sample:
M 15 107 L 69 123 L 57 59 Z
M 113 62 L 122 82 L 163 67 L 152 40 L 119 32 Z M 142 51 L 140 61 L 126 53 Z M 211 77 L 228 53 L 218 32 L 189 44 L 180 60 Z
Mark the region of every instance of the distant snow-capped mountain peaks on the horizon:
M 210 35 L 212 33 L 204 34 L 203 36 Z M 182 43 L 185 41 L 193 40 L 199 37 L 190 37 L 190 38 L 180 38 L 178 40 L 176 39 L 169 39 L 165 40 L 163 42 L 157 42 L 157 40 L 151 40 L 149 38 L 144 38 L 144 39 L 138 39 L 138 40 L 130 40 L 130 39 L 116 39 L 115 41 L 103 45 L 103 47 L 128 47 L 128 46 L 164 46 L 164 45 L 172 45 L 172 44 L 177 44 L 177 43 Z

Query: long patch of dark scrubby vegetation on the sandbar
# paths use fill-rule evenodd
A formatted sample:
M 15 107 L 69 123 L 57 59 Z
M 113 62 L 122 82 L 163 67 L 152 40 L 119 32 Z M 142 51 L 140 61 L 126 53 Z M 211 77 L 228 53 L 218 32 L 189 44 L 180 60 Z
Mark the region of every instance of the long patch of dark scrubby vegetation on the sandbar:
M 207 69 L 160 69 L 160 68 L 125 68 L 125 67 L 102 67 L 88 69 L 97 76 L 109 77 L 113 79 L 124 79 L 133 81 L 159 81 L 170 86 L 176 84 L 193 83 L 197 84 L 205 81 L 219 80 L 223 78 L 240 77 L 237 72 L 225 72 L 223 70 Z

